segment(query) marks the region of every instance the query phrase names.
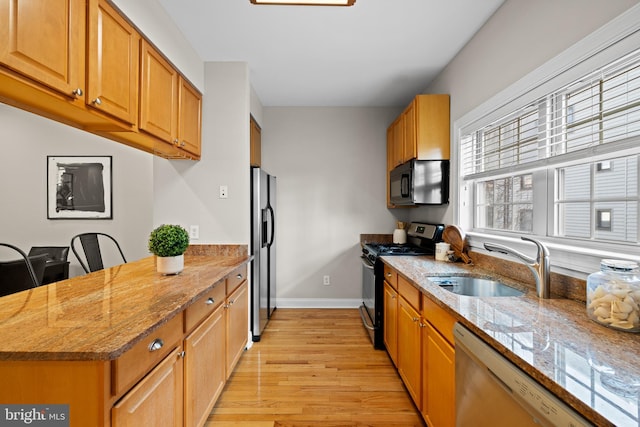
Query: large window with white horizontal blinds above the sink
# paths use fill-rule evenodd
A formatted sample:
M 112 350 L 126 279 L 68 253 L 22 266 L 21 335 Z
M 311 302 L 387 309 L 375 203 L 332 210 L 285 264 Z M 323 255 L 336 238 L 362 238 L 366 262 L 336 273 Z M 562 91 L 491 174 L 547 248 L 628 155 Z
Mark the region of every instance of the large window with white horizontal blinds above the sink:
M 476 232 L 638 247 L 640 51 L 463 131 L 460 150 Z

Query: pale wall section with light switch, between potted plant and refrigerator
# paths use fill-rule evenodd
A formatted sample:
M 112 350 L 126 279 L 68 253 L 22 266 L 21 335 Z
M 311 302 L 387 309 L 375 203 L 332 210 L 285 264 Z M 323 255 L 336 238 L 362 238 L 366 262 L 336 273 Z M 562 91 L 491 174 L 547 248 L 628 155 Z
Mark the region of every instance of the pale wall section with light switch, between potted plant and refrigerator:
M 154 159 L 154 224 L 198 225 L 192 243 L 249 244 L 249 69 L 205 64 L 202 160 Z M 218 198 L 220 185 L 229 189 Z

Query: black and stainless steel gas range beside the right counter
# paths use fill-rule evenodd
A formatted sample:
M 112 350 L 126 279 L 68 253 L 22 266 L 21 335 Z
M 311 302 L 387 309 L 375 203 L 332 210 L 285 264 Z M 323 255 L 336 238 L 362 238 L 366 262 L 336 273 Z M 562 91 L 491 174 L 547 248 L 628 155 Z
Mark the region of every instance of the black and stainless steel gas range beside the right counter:
M 362 305 L 360 317 L 369 332 L 373 347 L 384 347 L 384 265 L 381 256 L 433 255 L 442 240 L 443 224 L 412 222 L 407 243 L 366 243 L 362 247 Z

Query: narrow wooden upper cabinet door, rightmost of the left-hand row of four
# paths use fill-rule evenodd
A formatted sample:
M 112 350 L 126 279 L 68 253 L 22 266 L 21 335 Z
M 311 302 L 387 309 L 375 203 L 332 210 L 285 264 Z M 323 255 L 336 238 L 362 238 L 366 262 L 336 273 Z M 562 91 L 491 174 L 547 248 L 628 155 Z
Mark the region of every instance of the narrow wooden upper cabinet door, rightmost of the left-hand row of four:
M 178 138 L 180 148 L 200 156 L 202 140 L 202 95 L 180 78 L 178 96 Z

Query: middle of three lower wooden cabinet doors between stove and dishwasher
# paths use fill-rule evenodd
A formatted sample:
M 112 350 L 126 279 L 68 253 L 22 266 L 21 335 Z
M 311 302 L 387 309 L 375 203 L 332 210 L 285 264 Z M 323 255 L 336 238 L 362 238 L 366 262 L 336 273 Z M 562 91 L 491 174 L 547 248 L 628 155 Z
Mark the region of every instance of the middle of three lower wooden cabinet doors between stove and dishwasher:
M 402 295 L 398 298 L 398 373 L 418 409 L 422 406 L 420 315 Z

